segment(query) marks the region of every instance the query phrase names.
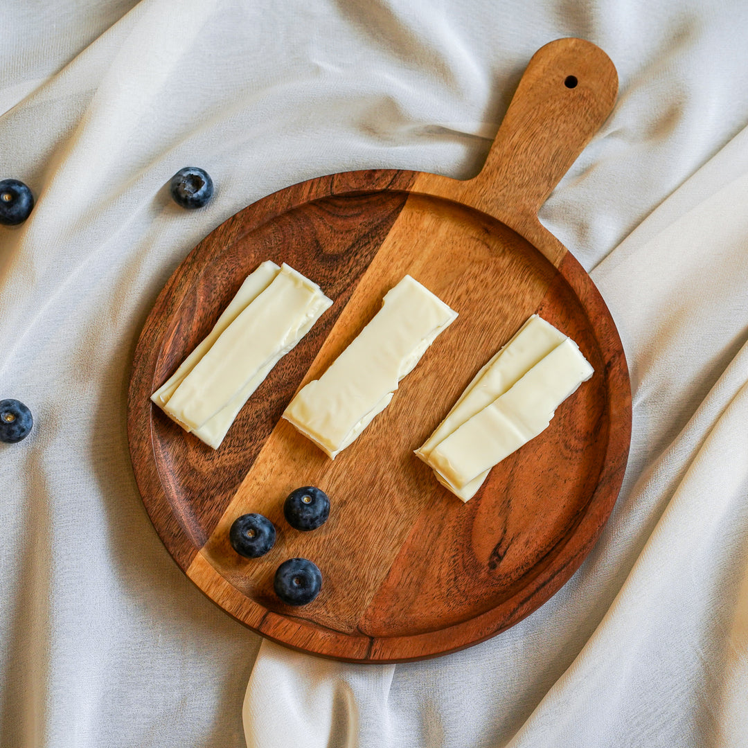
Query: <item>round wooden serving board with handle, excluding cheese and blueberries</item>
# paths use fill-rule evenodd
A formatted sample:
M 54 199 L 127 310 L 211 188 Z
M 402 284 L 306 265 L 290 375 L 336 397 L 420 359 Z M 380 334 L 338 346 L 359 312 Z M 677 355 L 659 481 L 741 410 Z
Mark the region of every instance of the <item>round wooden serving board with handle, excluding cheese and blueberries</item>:
M 481 173 L 460 182 L 408 171 L 310 180 L 234 215 L 188 255 L 142 331 L 129 389 L 129 444 L 145 506 L 188 577 L 265 637 L 355 662 L 433 657 L 536 610 L 580 565 L 621 485 L 631 393 L 613 319 L 589 276 L 541 226 L 539 206 L 603 123 L 616 70 L 578 39 L 530 61 Z M 590 206 L 593 209 L 593 206 Z M 334 304 L 251 397 L 221 448 L 168 420 L 150 394 L 209 332 L 246 275 L 286 262 Z M 459 312 L 390 406 L 334 461 L 281 419 L 409 273 Z M 463 504 L 413 450 L 530 314 L 570 335 L 595 375 L 550 428 L 491 471 Z M 331 497 L 327 524 L 292 530 L 283 500 Z M 228 529 L 246 512 L 278 528 L 245 560 Z M 322 570 L 311 604 L 272 591 L 278 565 Z

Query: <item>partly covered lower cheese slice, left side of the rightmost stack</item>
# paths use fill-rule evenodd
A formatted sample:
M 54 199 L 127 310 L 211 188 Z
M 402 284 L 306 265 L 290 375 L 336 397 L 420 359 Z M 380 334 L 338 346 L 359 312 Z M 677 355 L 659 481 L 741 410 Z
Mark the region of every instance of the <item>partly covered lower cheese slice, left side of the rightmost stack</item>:
M 486 405 L 503 395 L 564 340 L 565 334 L 554 328 L 550 322 L 533 314 L 476 374 L 447 417 L 416 454 L 428 461 L 429 454 L 437 444 L 444 441 L 469 418 L 482 411 Z

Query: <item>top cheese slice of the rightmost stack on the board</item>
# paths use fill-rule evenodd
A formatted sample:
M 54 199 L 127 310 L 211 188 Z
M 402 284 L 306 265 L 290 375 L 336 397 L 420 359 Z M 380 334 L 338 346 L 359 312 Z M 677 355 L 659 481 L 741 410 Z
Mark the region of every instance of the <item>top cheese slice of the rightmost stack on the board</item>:
M 429 465 L 448 488 L 462 491 L 548 428 L 556 408 L 592 373 L 576 343 L 567 338 L 506 393 L 434 447 Z

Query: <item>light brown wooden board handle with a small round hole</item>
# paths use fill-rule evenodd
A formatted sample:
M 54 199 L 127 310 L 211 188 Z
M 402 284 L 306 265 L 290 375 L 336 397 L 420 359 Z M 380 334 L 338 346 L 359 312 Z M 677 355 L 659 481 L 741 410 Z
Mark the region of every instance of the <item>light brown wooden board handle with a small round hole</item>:
M 530 59 L 480 173 L 462 182 L 429 175 L 418 189 L 493 215 L 542 251 L 548 243 L 553 261 L 558 248 L 538 210 L 607 119 L 617 93 L 616 67 L 598 46 L 575 38 L 548 43 Z

